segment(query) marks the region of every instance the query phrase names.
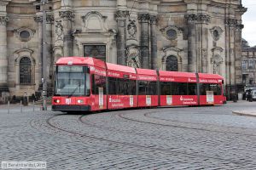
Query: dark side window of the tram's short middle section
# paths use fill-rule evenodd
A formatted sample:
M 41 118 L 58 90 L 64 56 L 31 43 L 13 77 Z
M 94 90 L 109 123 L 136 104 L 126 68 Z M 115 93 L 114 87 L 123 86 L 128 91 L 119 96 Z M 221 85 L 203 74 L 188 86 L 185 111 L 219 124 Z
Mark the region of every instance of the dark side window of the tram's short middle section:
M 156 82 L 150 81 L 139 81 L 138 82 L 139 95 L 156 95 L 157 94 L 157 87 Z

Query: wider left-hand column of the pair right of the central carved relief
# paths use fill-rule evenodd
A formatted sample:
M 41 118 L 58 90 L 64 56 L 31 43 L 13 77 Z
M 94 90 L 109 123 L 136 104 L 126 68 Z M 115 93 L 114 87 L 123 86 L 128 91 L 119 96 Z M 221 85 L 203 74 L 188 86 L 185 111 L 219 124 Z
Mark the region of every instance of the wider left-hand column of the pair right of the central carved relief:
M 141 56 L 143 69 L 150 68 L 149 65 L 149 14 L 139 14 L 138 20 L 141 23 Z

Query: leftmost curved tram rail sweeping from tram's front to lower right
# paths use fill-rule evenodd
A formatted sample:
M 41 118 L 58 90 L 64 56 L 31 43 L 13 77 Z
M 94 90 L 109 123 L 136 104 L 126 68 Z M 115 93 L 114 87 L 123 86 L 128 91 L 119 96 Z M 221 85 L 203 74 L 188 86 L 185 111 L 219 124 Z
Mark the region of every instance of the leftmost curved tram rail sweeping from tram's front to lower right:
M 60 116 L 62 116 L 62 115 L 60 115 Z M 237 164 L 238 166 L 241 166 L 243 164 L 244 165 L 247 164 L 247 162 L 234 161 L 234 160 L 230 160 L 230 159 L 223 159 L 223 158 L 219 158 L 217 156 L 215 157 L 215 156 L 205 156 L 205 155 L 192 154 L 192 153 L 187 153 L 187 152 L 184 152 L 184 151 L 172 150 L 172 148 L 171 149 L 161 149 L 161 148 L 156 148 L 156 147 L 152 147 L 152 146 L 145 146 L 145 145 L 141 145 L 141 144 L 131 144 L 131 143 L 128 143 L 128 142 L 121 142 L 121 141 L 116 141 L 116 140 L 111 140 L 111 139 L 104 139 L 104 138 L 96 137 L 96 136 L 85 134 L 85 133 L 73 132 L 71 130 L 67 130 L 67 129 L 63 129 L 61 127 L 55 126 L 54 123 L 52 122 L 52 119 L 54 119 L 55 117 L 58 117 L 58 116 L 51 116 L 46 120 L 47 125 L 49 125 L 49 127 L 55 128 L 58 131 L 61 131 L 61 132 L 64 132 L 64 133 L 69 133 L 73 136 L 77 136 L 77 137 L 80 137 L 80 138 L 96 139 L 96 140 L 108 142 L 110 144 L 122 144 L 122 145 L 126 145 L 126 146 L 137 147 L 137 148 L 140 148 L 140 149 L 143 149 L 143 150 L 159 151 L 161 153 L 165 153 L 166 155 L 177 154 L 177 155 L 184 155 L 184 156 L 191 156 L 191 157 L 197 156 L 197 157 L 201 157 L 203 159 L 214 159 L 214 160 L 224 161 L 224 162 L 229 161 L 230 163 Z M 82 117 L 83 116 L 79 116 L 79 122 L 81 122 Z M 82 121 L 82 123 L 84 123 L 84 122 Z

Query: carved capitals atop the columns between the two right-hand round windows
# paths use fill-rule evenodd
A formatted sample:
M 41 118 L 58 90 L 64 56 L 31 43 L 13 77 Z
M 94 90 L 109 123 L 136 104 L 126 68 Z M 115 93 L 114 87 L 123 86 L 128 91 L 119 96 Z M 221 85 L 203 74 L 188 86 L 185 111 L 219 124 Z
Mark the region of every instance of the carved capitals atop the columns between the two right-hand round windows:
M 211 18 L 208 14 L 186 14 L 185 19 L 189 23 L 196 23 L 196 24 L 208 24 L 211 22 Z

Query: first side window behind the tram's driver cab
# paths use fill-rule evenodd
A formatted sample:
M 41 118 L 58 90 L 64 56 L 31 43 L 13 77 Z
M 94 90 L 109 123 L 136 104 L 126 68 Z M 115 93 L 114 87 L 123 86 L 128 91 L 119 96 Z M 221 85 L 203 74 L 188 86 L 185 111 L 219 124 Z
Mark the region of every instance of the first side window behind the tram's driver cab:
M 106 77 L 92 75 L 92 94 L 99 94 L 99 88 L 103 88 L 103 94 L 106 94 Z

